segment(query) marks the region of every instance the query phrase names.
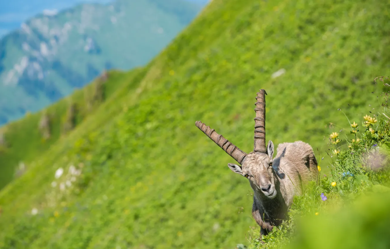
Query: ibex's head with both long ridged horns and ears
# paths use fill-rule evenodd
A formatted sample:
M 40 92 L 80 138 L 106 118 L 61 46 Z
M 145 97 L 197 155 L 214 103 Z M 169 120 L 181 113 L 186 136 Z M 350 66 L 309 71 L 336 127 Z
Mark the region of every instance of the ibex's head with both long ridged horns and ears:
M 272 167 L 273 142 L 269 141 L 267 148 L 265 146 L 266 94 L 264 89 L 257 92 L 257 102 L 255 103 L 255 143 L 253 151 L 249 154 L 234 146 L 234 144 L 216 133 L 214 129 L 210 129 L 206 124 L 200 121 L 197 121 L 195 124 L 234 160 L 241 164 L 241 166 L 228 164 L 233 172 L 248 178 L 254 190 L 261 191 L 266 197 L 272 199 L 276 196 L 277 191 L 275 189 L 276 176 Z

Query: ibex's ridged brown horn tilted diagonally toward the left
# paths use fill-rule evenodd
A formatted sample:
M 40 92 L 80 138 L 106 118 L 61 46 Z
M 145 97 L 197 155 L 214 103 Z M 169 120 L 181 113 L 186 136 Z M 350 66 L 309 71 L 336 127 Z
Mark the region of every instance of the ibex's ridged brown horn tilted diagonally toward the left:
M 237 146 L 229 142 L 222 135 L 219 135 L 215 132 L 214 129 L 210 129 L 210 126 L 206 126 L 206 124 L 196 121 L 195 125 L 201 130 L 203 133 L 207 135 L 211 140 L 213 140 L 218 146 L 220 146 L 226 153 L 230 155 L 230 157 L 234 158 L 239 164 L 243 161 L 246 153 L 239 149 Z

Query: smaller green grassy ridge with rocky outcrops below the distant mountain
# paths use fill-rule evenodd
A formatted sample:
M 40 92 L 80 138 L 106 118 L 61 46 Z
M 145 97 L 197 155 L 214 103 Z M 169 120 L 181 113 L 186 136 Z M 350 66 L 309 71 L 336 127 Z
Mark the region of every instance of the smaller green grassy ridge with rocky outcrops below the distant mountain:
M 120 71 L 110 71 L 108 80 L 104 83 L 105 102 L 110 103 L 111 99 L 118 98 L 118 94 L 127 94 L 128 90 L 134 87 L 132 81 L 140 72 L 140 69 L 133 69 L 128 73 Z M 77 106 L 76 125 L 80 124 L 91 112 L 102 104 L 99 102 L 92 103 L 90 108 L 87 107 L 87 101 L 93 97 L 94 86 L 97 80 L 87 85 L 84 89 L 76 90 L 71 96 L 68 96 L 50 107 L 27 116 L 20 121 L 15 121 L 7 126 L 2 127 L 5 137 L 5 146 L 0 146 L 0 189 L 9 183 L 18 170 L 19 163 L 32 160 L 46 151 L 54 144 L 61 135 L 66 134 L 64 123 L 67 110 L 71 102 Z M 137 81 L 137 79 L 136 79 Z M 47 112 L 51 120 L 51 137 L 44 140 L 38 129 L 39 120 L 44 112 Z M 107 112 L 106 115 L 113 115 Z M 109 118 L 106 116 L 105 118 Z M 102 120 L 104 122 L 104 119 Z

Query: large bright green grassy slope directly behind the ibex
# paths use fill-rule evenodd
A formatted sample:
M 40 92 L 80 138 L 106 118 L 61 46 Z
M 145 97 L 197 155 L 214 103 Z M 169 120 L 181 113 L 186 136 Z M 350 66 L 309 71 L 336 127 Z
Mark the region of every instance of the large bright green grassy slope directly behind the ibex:
M 134 91 L 0 192 L 0 247 L 234 248 L 255 226 L 251 189 L 195 121 L 249 152 L 255 93 L 264 88 L 267 139 L 309 142 L 321 158 L 323 137 L 349 126 L 338 108 L 358 121 L 379 105 L 371 92 L 383 88 L 372 81 L 390 69 L 388 7 L 213 0 L 141 70 Z M 105 118 L 108 108 L 117 114 Z

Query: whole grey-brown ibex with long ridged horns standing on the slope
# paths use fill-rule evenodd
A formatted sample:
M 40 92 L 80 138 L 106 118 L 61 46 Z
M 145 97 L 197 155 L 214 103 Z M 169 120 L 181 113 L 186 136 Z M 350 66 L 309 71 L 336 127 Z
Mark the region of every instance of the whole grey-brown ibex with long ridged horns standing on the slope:
M 229 168 L 249 180 L 254 191 L 252 216 L 259 226 L 260 238 L 267 235 L 273 226 L 289 219 L 288 209 L 295 195 L 303 193 L 303 185 L 316 181 L 318 177 L 317 160 L 310 145 L 302 141 L 282 143 L 273 158 L 274 146 L 269 141 L 266 148 L 265 95 L 264 89 L 257 92 L 255 103 L 255 142 L 254 150 L 246 154 L 210 129 L 206 124 L 196 121 L 196 126 L 220 146 L 241 166 L 228 164 Z

